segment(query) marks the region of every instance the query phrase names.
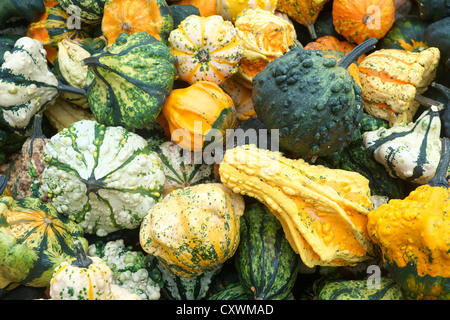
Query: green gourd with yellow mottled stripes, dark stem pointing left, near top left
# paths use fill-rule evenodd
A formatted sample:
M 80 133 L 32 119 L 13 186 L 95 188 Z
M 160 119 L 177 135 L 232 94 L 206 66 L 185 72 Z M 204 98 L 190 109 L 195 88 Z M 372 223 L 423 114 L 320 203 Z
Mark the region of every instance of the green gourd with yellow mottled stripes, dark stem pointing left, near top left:
M 88 103 L 99 123 L 134 131 L 156 121 L 176 74 L 164 43 L 146 32 L 122 33 L 107 51 L 83 61 Z

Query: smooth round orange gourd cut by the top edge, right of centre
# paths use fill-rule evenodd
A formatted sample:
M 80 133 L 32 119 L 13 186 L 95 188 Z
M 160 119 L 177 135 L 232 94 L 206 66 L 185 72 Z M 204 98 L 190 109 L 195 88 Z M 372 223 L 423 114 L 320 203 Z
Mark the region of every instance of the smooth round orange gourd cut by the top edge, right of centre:
M 394 0 L 335 0 L 332 12 L 337 33 L 357 44 L 383 38 L 395 21 Z

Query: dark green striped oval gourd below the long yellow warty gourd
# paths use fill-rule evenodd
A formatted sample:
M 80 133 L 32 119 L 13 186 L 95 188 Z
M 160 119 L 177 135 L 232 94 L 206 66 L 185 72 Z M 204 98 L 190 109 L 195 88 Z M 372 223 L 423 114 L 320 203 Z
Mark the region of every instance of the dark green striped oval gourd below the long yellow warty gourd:
M 246 208 L 240 233 L 235 262 L 241 284 L 256 300 L 288 298 L 300 258 L 289 245 L 281 223 L 258 202 Z

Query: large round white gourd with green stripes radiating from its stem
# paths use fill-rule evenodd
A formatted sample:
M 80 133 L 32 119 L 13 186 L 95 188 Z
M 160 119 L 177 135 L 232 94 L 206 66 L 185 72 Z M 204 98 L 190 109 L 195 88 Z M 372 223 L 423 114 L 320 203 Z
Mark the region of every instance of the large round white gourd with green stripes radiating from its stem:
M 139 226 L 160 199 L 165 175 L 147 141 L 122 127 L 81 120 L 44 149 L 41 193 L 86 233 Z

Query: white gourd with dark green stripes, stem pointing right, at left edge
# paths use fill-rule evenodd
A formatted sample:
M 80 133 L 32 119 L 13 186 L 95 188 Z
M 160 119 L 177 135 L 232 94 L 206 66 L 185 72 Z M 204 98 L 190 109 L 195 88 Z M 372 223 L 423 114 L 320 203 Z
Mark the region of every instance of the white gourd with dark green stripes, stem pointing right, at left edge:
M 0 124 L 18 134 L 27 135 L 33 116 L 61 91 L 84 93 L 59 83 L 48 68 L 42 43 L 37 40 L 20 38 L 4 59 L 0 67 Z

